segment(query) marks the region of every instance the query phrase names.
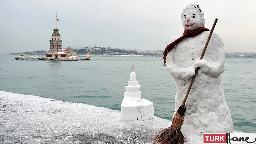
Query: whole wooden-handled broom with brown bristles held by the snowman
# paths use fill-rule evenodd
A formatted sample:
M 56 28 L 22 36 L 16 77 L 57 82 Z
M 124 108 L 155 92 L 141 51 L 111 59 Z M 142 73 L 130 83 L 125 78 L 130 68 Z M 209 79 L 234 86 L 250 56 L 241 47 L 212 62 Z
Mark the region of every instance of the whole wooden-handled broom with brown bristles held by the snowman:
M 203 57 L 204 57 L 204 53 L 205 53 L 206 48 L 209 44 L 209 41 L 210 41 L 210 38 L 212 36 L 213 29 L 215 28 L 215 25 L 217 23 L 217 20 L 218 19 L 215 19 L 215 21 L 213 23 L 212 29 L 210 31 L 210 34 L 209 34 L 208 39 L 206 41 L 206 44 L 204 46 L 204 50 L 201 54 L 200 60 L 202 60 Z M 159 131 L 159 132 L 156 132 L 156 137 L 153 138 L 154 143 L 159 143 L 159 144 L 184 144 L 185 142 L 187 142 L 188 139 L 183 136 L 182 132 L 180 131 L 180 127 L 183 124 L 184 116 L 186 114 L 186 109 L 187 108 L 185 107 L 185 102 L 188 98 L 189 91 L 192 87 L 192 84 L 195 80 L 195 77 L 196 77 L 196 74 L 197 74 L 198 70 L 199 70 L 199 67 L 196 68 L 196 70 L 195 70 L 195 75 L 192 77 L 192 80 L 191 80 L 191 82 L 189 84 L 189 87 L 188 87 L 188 91 L 186 93 L 186 96 L 185 96 L 181 106 L 179 107 L 179 109 L 175 113 L 174 117 L 172 118 L 172 125 L 168 128 L 165 128 L 165 129 Z

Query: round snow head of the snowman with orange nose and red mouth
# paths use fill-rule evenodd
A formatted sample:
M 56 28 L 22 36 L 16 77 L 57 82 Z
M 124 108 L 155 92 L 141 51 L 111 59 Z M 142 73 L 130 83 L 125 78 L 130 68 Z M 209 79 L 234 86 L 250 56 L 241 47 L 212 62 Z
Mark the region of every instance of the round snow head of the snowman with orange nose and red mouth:
M 186 30 L 204 26 L 204 12 L 197 4 L 188 4 L 181 13 L 181 22 Z

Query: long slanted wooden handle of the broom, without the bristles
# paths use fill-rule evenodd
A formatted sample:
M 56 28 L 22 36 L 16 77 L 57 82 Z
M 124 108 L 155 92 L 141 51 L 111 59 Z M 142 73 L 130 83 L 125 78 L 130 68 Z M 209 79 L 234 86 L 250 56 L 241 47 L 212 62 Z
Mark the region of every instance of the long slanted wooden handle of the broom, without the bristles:
M 204 53 L 205 53 L 206 48 L 207 48 L 207 46 L 208 46 L 208 44 L 209 44 L 209 41 L 210 41 L 211 36 L 212 36 L 213 29 L 215 28 L 217 21 L 218 21 L 218 19 L 215 19 L 215 21 L 214 21 L 214 23 L 213 23 L 213 25 L 212 25 L 212 29 L 211 29 L 210 34 L 209 34 L 209 36 L 208 36 L 208 39 L 207 39 L 207 41 L 206 41 L 206 43 L 205 43 L 205 45 L 204 45 L 204 50 L 203 50 L 203 52 L 202 52 L 202 54 L 201 54 L 200 60 L 202 60 L 203 57 L 204 57 Z M 189 86 L 188 86 L 188 91 L 187 91 L 186 96 L 185 96 L 185 98 L 184 98 L 184 100 L 183 100 L 183 103 L 181 104 L 181 105 L 183 105 L 183 106 L 185 106 L 186 100 L 187 100 L 187 98 L 188 98 L 188 94 L 189 94 L 189 92 L 190 92 L 190 89 L 191 89 L 191 87 L 192 87 L 192 84 L 193 84 L 193 82 L 194 82 L 194 80 L 195 80 L 195 77 L 196 77 L 196 74 L 197 74 L 199 68 L 200 68 L 200 67 L 197 67 L 197 68 L 196 68 L 196 70 L 195 70 L 195 75 L 192 77 L 192 80 L 191 80 L 191 82 L 190 82 L 190 84 L 189 84 Z

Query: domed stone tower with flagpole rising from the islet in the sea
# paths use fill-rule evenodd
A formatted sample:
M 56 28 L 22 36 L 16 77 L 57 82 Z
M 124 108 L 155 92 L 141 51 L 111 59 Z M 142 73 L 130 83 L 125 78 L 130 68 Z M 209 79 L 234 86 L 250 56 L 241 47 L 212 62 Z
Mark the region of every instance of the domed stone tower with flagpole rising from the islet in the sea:
M 52 38 L 50 40 L 50 52 L 57 52 L 61 49 L 62 40 L 60 40 L 59 29 L 57 29 L 57 13 L 56 13 L 56 27 L 53 29 Z M 59 20 L 58 20 L 59 21 Z

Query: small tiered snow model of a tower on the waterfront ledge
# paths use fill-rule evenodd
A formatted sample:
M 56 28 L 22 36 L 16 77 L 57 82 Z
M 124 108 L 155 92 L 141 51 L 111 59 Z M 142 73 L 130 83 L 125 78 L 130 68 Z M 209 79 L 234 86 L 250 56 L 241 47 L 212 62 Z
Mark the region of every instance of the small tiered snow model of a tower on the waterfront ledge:
M 135 72 L 132 72 L 128 86 L 124 87 L 126 92 L 121 105 L 121 121 L 146 120 L 155 117 L 153 102 L 141 99 L 140 87 Z

